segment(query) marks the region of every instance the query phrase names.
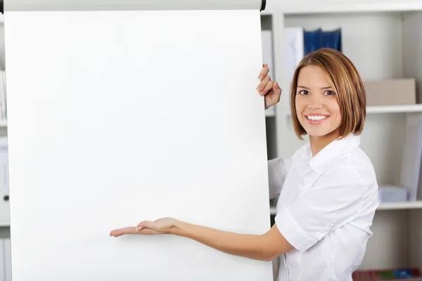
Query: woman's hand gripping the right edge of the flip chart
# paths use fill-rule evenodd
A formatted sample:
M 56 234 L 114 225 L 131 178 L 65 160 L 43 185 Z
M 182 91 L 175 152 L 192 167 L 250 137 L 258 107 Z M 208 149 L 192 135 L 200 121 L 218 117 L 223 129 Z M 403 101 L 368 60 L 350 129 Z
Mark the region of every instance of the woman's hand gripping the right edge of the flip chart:
M 260 84 L 257 86 L 257 91 L 261 96 L 264 96 L 265 109 L 279 103 L 281 96 L 281 88 L 276 81 L 271 81 L 271 77 L 268 75 L 268 65 L 262 65 L 260 72 Z

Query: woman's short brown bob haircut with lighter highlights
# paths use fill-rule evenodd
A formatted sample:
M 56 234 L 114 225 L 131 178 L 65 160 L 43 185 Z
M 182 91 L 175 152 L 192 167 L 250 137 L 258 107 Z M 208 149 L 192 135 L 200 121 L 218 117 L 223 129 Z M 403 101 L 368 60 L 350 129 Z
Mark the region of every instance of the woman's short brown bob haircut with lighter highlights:
M 350 133 L 355 135 L 362 133 L 366 118 L 366 92 L 362 79 L 356 67 L 343 53 L 333 48 L 320 48 L 302 58 L 293 74 L 290 110 L 298 138 L 303 140 L 302 135 L 306 135 L 307 132 L 296 115 L 296 87 L 300 70 L 308 65 L 320 67 L 325 72 L 328 83 L 338 98 L 341 115 L 340 138 Z

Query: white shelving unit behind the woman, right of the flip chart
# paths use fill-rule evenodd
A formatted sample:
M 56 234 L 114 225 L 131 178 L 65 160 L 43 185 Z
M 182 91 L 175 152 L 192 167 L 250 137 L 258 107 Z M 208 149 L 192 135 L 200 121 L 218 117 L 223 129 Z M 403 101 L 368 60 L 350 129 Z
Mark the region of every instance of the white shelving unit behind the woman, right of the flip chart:
M 288 157 L 305 141 L 295 136 L 290 117 L 290 79 L 285 74 L 285 27 L 342 29 L 343 53 L 362 79 L 416 79 L 416 105 L 368 106 L 361 148 L 371 158 L 379 185 L 398 185 L 407 117 L 422 115 L 422 1 L 273 0 L 264 12 L 274 32 L 275 79 L 281 84 L 276 105 L 276 157 Z M 264 15 L 263 15 L 264 17 Z M 399 93 L 397 93 L 399 94 Z M 420 190 L 419 194 L 422 193 Z M 274 200 L 276 201 L 276 200 Z M 271 202 L 271 214 L 275 203 Z M 422 270 L 422 197 L 416 202 L 381 203 L 359 269 Z

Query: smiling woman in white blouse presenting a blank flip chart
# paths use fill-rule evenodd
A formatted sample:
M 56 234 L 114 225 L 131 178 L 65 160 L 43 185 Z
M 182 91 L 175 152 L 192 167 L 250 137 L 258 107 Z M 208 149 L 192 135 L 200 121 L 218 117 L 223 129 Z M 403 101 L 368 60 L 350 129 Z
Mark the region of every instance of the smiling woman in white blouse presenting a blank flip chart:
M 266 107 L 281 94 L 268 71 L 264 65 L 257 87 Z M 378 207 L 376 174 L 359 148 L 366 117 L 362 79 L 345 55 L 322 48 L 298 65 L 290 100 L 295 133 L 300 139 L 308 134 L 309 143 L 292 157 L 269 160 L 270 197 L 279 200 L 267 233 L 243 235 L 160 218 L 110 235 L 172 234 L 250 259 L 280 256 L 279 281 L 352 280 Z

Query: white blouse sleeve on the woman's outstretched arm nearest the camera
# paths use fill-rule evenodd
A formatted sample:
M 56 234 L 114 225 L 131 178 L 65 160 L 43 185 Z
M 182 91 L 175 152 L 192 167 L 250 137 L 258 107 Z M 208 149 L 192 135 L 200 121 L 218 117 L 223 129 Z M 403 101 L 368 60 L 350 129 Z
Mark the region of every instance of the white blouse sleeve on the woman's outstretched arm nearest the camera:
M 366 189 L 362 177 L 352 167 L 328 170 L 276 215 L 276 226 L 295 249 L 305 251 L 330 230 L 358 215 Z

